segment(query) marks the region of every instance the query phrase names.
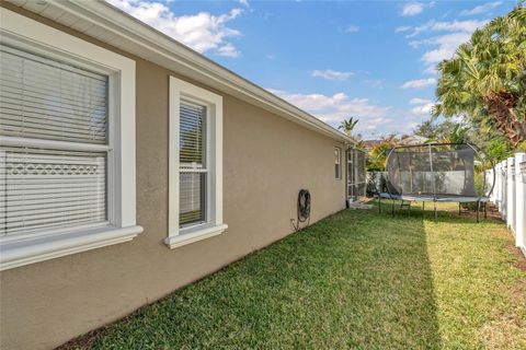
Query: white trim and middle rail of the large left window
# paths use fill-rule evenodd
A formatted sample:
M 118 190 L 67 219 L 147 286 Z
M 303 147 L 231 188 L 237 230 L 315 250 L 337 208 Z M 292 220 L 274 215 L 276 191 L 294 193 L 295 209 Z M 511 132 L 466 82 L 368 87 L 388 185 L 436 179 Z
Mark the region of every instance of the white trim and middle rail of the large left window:
M 136 224 L 135 190 L 135 61 L 72 35 L 0 8 L 0 40 L 49 58 L 108 74 L 110 144 L 0 137 L 5 145 L 53 147 L 96 151 L 108 158 L 108 221 L 102 224 L 50 229 L 35 234 L 0 237 L 0 270 L 127 242 L 142 232 Z

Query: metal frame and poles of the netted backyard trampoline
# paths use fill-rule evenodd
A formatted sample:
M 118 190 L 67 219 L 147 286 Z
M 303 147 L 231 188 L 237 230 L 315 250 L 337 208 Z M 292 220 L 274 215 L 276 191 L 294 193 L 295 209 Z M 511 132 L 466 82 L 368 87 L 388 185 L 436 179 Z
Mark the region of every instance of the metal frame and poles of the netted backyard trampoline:
M 495 186 L 495 172 L 491 172 L 492 174 L 492 182 L 491 182 L 491 187 L 488 194 L 479 194 L 478 196 L 461 196 L 461 195 L 444 195 L 444 194 L 437 194 L 436 191 L 436 184 L 435 184 L 435 172 L 433 170 L 433 148 L 437 147 L 469 147 L 473 151 L 473 155 L 476 155 L 482 166 L 484 165 L 484 158 L 481 155 L 481 153 L 470 143 L 455 143 L 455 142 L 446 142 L 446 143 L 424 143 L 424 144 L 410 144 L 410 145 L 398 145 L 389 151 L 387 158 L 386 158 L 386 173 L 387 173 L 387 190 L 388 192 L 381 192 L 381 180 L 380 180 L 380 190 L 377 188 L 377 196 L 378 196 L 378 212 L 381 213 L 381 198 L 387 198 L 391 199 L 391 214 L 395 215 L 395 201 L 397 199 L 401 200 L 400 208 L 411 208 L 411 202 L 412 201 L 422 201 L 422 210 L 425 214 L 425 202 L 426 201 L 433 201 L 433 212 L 434 212 L 434 219 L 435 221 L 437 220 L 437 212 L 436 212 L 436 202 L 458 202 L 458 214 L 461 213 L 461 203 L 462 202 L 476 202 L 476 211 L 477 211 L 477 222 L 480 221 L 480 211 L 481 211 L 481 205 L 483 206 L 483 212 L 484 212 L 484 219 L 488 217 L 488 208 L 487 203 L 489 200 L 490 195 L 493 191 L 493 188 Z M 395 188 L 395 186 L 391 185 L 390 179 L 389 179 L 389 174 L 390 174 L 390 163 L 389 159 L 391 158 L 392 154 L 397 152 L 397 150 L 401 149 L 411 149 L 411 148 L 427 148 L 427 154 L 428 154 L 428 162 L 430 162 L 430 173 L 431 173 L 431 178 L 432 178 L 432 188 L 433 188 L 433 197 L 428 196 L 419 196 L 419 195 L 410 195 L 410 196 L 404 196 L 403 194 L 393 194 L 391 192 L 391 187 Z M 422 152 L 423 153 L 423 152 Z M 474 158 L 473 158 L 474 159 Z M 399 163 L 399 168 L 400 168 L 400 161 Z M 491 168 L 494 168 L 493 163 L 491 163 Z M 481 173 L 483 176 L 483 186 L 488 185 L 488 178 L 487 178 L 487 170 L 489 168 L 482 168 Z M 465 168 L 465 173 L 467 172 L 467 168 Z M 474 162 L 473 162 L 473 175 L 474 175 Z M 407 203 L 404 203 L 407 201 Z

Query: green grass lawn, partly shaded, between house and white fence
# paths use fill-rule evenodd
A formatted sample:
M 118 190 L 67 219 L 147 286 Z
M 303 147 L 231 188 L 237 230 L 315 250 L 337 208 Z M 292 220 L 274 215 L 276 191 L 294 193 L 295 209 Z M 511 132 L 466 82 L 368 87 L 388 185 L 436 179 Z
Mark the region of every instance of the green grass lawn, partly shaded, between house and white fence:
M 526 349 L 505 225 L 388 208 L 342 211 L 66 347 Z

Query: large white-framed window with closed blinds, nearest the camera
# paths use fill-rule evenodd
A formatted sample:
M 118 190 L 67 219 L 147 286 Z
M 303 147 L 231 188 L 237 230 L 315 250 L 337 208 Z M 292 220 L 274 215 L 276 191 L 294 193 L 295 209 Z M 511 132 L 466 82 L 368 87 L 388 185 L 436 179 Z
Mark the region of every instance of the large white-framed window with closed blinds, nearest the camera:
M 135 62 L 3 11 L 1 268 L 132 240 Z

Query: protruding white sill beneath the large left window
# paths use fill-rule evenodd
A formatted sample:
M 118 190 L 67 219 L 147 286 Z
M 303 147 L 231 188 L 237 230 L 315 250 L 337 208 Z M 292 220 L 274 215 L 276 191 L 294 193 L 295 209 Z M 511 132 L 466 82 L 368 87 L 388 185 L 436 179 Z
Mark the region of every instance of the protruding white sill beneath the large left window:
M 142 228 L 137 225 L 104 226 L 20 241 L 0 241 L 0 270 L 132 241 L 141 232 Z

